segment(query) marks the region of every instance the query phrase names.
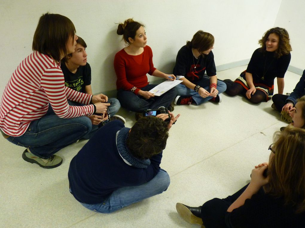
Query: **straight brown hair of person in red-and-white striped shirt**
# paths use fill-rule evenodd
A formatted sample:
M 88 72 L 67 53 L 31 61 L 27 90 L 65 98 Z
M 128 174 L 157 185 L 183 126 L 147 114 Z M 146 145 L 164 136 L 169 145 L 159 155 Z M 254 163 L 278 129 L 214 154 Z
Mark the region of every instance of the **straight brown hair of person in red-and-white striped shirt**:
M 38 22 L 33 38 L 33 51 L 51 55 L 57 62 L 60 54 L 67 55 L 67 42 L 76 33 L 72 21 L 60 14 L 43 14 Z M 74 42 L 74 40 L 73 40 Z

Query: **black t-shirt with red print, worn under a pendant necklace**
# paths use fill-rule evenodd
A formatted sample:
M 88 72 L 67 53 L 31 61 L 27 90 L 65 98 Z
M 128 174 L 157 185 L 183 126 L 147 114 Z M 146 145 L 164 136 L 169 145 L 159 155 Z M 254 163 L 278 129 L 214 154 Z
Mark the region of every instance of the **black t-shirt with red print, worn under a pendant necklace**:
M 196 83 L 203 78 L 205 72 L 209 77 L 216 75 L 213 52 L 210 51 L 208 55 L 199 56 L 196 59 L 192 48 L 188 48 L 186 45 L 181 47 L 176 57 L 174 75 L 184 76 L 192 83 Z

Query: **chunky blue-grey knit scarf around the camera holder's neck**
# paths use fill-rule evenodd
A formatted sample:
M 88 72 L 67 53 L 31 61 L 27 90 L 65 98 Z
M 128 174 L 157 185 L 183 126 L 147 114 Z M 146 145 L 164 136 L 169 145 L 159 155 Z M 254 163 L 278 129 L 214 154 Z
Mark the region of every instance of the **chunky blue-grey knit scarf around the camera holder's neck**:
M 128 127 L 123 127 L 118 135 L 117 135 L 117 150 L 119 151 L 120 155 L 132 166 L 136 168 L 147 168 L 147 166 L 150 164 L 149 159 L 138 159 L 136 157 L 133 157 L 129 149 L 126 146 L 126 140 L 128 137 L 130 128 Z

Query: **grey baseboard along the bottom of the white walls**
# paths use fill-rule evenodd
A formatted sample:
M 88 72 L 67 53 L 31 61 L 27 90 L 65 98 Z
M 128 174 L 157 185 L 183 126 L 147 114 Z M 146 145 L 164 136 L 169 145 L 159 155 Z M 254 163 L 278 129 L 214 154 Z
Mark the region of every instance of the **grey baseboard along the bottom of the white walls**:
M 224 70 L 228 70 L 234 67 L 239 67 L 239 66 L 245 66 L 248 65 L 250 59 L 244 59 L 244 60 L 240 60 L 240 61 L 236 61 L 236 62 L 231 62 L 231 63 L 226 63 L 226 64 L 222 64 L 219 66 L 216 66 L 217 71 L 224 71 Z M 295 74 L 299 74 L 302 75 L 303 74 L 303 69 L 300 69 L 298 67 L 293 67 L 290 66 L 288 67 L 288 71 L 295 73 Z M 150 84 L 160 84 L 161 82 L 163 82 L 163 79 L 158 79 L 156 81 L 150 81 Z M 105 91 L 105 92 L 100 92 L 102 94 L 107 95 L 109 98 L 110 97 L 117 97 L 117 90 L 110 90 L 110 91 Z M 99 93 L 95 93 L 99 94 Z

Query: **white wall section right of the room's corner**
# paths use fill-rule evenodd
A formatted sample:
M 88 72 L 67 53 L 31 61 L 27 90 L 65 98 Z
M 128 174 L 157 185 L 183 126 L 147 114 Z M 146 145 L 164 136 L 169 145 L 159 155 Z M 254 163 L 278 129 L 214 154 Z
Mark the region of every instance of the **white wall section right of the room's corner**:
M 303 0 L 282 0 L 274 26 L 287 29 L 292 46 L 290 65 L 302 70 L 305 68 L 305 9 Z

